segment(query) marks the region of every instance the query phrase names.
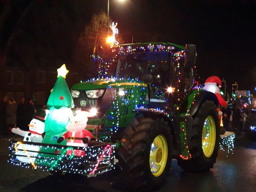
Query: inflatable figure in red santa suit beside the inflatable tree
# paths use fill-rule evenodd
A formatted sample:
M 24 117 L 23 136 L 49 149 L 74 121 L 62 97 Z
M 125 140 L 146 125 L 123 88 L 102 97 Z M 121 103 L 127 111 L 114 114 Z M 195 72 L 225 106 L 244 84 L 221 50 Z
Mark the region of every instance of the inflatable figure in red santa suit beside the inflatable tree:
M 92 133 L 85 129 L 86 123 L 88 121 L 88 116 L 91 116 L 89 112 L 86 111 L 77 111 L 76 116 L 71 119 L 71 124 L 66 126 L 68 130 L 65 134 L 63 134 L 57 142 L 60 143 L 63 140 L 68 139 L 68 146 L 76 146 L 76 147 L 87 147 L 88 141 L 92 139 Z M 85 156 L 84 150 L 74 150 L 75 156 Z M 67 150 L 67 155 L 71 155 L 72 150 Z

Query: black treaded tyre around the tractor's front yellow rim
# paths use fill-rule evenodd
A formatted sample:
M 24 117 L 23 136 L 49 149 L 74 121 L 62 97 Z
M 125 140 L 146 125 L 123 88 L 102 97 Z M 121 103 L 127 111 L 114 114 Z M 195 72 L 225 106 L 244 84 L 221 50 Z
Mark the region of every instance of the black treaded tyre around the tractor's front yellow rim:
M 136 117 L 127 126 L 122 138 L 122 145 L 118 149 L 117 158 L 121 166 L 123 179 L 127 187 L 131 189 L 140 189 L 140 191 L 154 190 L 164 183 L 150 185 L 148 182 L 148 173 L 145 172 L 145 150 L 147 140 L 156 126 L 167 126 L 163 119 L 152 120 L 151 118 Z M 168 138 L 166 138 L 168 140 Z M 171 140 L 171 133 L 170 133 Z M 167 160 L 168 161 L 168 160 Z M 166 167 L 168 162 L 166 163 Z M 171 162 L 170 162 L 171 166 Z M 150 173 L 151 174 L 151 173 Z M 166 176 L 165 176 L 166 177 Z

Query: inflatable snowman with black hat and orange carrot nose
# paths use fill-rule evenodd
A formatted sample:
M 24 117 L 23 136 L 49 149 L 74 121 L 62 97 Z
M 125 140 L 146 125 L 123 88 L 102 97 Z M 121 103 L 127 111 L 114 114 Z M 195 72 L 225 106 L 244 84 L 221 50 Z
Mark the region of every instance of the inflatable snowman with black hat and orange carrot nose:
M 12 128 L 12 132 L 23 136 L 23 141 L 41 143 L 43 140 L 42 133 L 44 133 L 44 119 L 34 118 L 31 120 L 28 126 L 29 131 L 23 131 L 20 128 Z M 31 157 L 31 160 L 35 161 L 35 158 L 40 148 L 36 145 L 27 144 L 23 144 L 23 147 L 28 152 L 28 155 Z M 16 158 L 21 162 L 30 163 L 30 160 L 24 152 L 23 147 L 21 145 L 18 145 L 18 151 L 15 153 Z

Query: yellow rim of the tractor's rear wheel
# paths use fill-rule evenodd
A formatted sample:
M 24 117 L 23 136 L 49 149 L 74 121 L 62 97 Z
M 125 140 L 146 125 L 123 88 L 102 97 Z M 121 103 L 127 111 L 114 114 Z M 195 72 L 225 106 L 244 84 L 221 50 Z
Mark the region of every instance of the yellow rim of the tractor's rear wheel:
M 207 116 L 204 121 L 204 127 L 202 131 L 202 147 L 204 156 L 209 158 L 212 156 L 216 140 L 216 127 L 212 116 Z

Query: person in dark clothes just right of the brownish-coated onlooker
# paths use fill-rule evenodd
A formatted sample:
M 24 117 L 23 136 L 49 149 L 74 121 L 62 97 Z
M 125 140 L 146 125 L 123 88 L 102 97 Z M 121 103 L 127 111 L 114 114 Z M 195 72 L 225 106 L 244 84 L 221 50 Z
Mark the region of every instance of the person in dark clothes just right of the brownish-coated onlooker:
M 25 98 L 20 99 L 20 104 L 17 106 L 17 127 L 23 131 L 28 131 L 29 127 L 26 121 L 26 104 Z

